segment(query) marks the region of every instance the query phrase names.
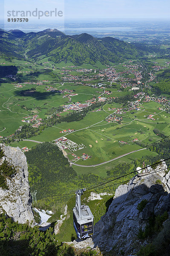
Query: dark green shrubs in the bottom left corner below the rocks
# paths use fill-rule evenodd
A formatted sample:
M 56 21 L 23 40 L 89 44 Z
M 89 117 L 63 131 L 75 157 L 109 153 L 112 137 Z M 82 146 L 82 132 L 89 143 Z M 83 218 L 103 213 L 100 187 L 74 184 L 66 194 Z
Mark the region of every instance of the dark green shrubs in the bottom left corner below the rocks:
M 58 242 L 52 227 L 45 232 L 38 227 L 18 224 L 0 215 L 0 256 L 92 256 L 95 251 L 75 251 Z

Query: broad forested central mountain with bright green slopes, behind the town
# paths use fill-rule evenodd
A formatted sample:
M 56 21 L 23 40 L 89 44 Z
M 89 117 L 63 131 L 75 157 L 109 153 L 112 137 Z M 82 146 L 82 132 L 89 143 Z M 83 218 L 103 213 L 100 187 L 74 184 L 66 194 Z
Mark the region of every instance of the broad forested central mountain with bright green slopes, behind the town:
M 32 47 L 27 52 L 30 58 L 46 55 L 56 63 L 72 61 L 74 64 L 94 64 L 100 61 L 103 64 L 109 64 L 109 61 L 123 61 L 147 53 L 115 38 L 94 38 L 86 33 L 73 36 L 62 34 L 57 38 L 50 35 L 46 40 L 42 40 L 41 43 L 39 41 L 36 44 L 37 47 Z

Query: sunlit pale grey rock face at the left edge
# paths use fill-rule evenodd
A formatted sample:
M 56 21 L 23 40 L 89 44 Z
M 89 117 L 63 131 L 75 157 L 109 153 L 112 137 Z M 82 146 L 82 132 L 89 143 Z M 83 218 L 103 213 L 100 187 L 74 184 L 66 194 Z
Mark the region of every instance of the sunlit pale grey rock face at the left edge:
M 28 222 L 32 226 L 35 220 L 32 212 L 32 200 L 28 183 L 28 166 L 26 156 L 20 148 L 13 148 L 0 144 L 5 157 L 0 160 L 0 165 L 7 160 L 16 168 L 14 177 L 7 178 L 9 189 L 0 187 L 0 213 L 6 212 L 6 215 L 19 223 Z

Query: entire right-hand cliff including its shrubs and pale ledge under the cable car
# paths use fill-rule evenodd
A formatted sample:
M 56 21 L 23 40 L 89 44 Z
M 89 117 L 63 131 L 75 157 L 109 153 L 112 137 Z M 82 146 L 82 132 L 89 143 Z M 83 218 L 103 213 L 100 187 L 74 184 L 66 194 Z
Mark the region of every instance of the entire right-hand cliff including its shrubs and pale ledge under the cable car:
M 160 250 L 158 255 L 169 255 L 161 253 L 166 241 L 170 244 L 170 172 L 165 162 L 149 171 L 116 189 L 107 213 L 95 224 L 93 239 L 74 241 L 75 247 L 98 247 L 106 255 L 135 256 L 142 246 L 150 244 L 151 254 L 138 255 L 155 256 L 154 250 Z

